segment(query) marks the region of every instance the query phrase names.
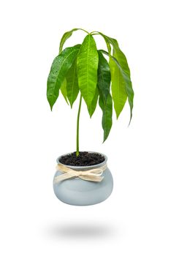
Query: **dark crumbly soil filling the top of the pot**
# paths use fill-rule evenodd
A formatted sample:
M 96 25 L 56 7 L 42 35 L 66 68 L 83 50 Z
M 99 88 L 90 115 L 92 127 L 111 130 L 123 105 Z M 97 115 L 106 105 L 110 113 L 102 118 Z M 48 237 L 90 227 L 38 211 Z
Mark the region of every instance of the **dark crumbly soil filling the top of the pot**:
M 88 152 L 80 152 L 79 156 L 76 156 L 76 152 L 71 154 L 67 154 L 59 159 L 59 162 L 64 165 L 72 165 L 72 166 L 90 166 L 90 165 L 98 165 L 101 162 L 104 162 L 104 157 L 102 154 L 97 153 L 88 153 Z

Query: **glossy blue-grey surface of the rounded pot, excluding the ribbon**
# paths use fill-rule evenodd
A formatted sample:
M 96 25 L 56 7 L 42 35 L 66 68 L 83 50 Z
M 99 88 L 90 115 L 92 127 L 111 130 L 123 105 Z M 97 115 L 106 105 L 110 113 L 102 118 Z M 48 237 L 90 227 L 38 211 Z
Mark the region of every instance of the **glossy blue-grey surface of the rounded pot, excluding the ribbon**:
M 57 170 L 53 179 L 53 189 L 56 197 L 63 203 L 73 206 L 90 206 L 106 200 L 113 191 L 113 176 L 106 165 L 107 157 L 104 154 L 102 155 L 104 156 L 104 162 L 101 162 L 98 165 L 83 167 L 61 164 L 59 162 L 61 157 L 58 157 L 56 160 L 58 164 L 61 164 L 64 167 L 69 167 L 72 170 L 81 171 L 82 173 L 87 170 L 102 167 L 104 167 L 105 170 L 102 173 L 102 176 L 104 177 L 102 181 L 86 181 L 79 177 L 73 177 L 66 178 L 63 181 L 56 183 L 56 177 L 64 174 L 61 170 Z

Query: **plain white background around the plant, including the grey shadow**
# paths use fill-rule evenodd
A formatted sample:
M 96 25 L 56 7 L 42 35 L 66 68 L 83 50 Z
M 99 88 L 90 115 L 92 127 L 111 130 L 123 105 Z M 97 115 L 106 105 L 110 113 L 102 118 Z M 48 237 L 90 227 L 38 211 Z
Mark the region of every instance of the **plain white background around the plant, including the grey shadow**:
M 0 254 L 171 255 L 170 1 L 1 1 Z M 102 144 L 102 113 L 83 105 L 80 149 L 107 155 L 113 194 L 96 206 L 53 195 L 56 157 L 75 151 L 77 105 L 46 99 L 62 34 L 118 39 L 132 71 L 129 106 Z M 82 42 L 78 31 L 66 46 Z M 98 48 L 105 47 L 96 37 Z

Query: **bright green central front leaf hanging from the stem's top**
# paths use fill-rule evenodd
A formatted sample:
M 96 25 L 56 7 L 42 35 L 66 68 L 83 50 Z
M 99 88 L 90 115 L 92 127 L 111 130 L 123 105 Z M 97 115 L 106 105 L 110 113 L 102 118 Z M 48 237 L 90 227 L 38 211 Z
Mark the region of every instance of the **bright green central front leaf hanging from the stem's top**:
M 78 86 L 88 108 L 96 92 L 98 60 L 96 42 L 91 34 L 88 34 L 77 55 Z

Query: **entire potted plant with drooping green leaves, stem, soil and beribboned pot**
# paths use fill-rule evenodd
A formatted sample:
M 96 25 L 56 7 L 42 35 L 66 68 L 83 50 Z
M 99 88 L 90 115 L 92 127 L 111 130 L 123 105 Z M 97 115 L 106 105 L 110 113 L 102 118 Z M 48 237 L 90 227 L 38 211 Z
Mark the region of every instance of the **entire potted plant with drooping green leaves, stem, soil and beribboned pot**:
M 67 31 L 61 38 L 59 54 L 54 59 L 47 78 L 47 100 L 51 110 L 59 91 L 72 105 L 80 94 L 77 113 L 76 151 L 57 159 L 57 171 L 53 189 L 59 200 L 75 206 L 87 206 L 107 199 L 113 190 L 113 177 L 107 167 L 107 157 L 97 152 L 82 152 L 79 148 L 79 120 L 82 100 L 88 113 L 93 116 L 97 102 L 102 109 L 102 129 L 105 141 L 112 127 L 113 103 L 116 118 L 128 99 L 130 121 L 134 91 L 126 56 L 116 39 L 98 31 L 88 33 L 82 45 L 63 50 L 66 39 L 74 31 Z M 107 50 L 97 50 L 94 37 L 100 35 Z

